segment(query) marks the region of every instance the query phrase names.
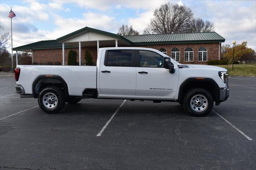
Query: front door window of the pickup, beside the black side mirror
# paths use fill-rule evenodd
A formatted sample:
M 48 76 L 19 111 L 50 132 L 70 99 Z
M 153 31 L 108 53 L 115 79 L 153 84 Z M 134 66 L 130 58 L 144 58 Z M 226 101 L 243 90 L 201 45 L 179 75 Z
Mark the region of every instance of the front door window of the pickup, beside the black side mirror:
M 139 51 L 140 67 L 159 67 L 163 68 L 164 58 L 162 55 L 153 51 Z

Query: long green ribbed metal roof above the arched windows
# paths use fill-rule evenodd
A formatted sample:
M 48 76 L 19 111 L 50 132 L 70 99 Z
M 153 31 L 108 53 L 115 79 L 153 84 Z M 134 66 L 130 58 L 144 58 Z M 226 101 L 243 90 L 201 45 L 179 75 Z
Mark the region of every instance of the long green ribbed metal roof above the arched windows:
M 180 33 L 180 34 L 147 34 L 137 36 L 123 36 L 134 45 L 151 43 L 203 43 L 225 42 L 225 38 L 216 32 Z

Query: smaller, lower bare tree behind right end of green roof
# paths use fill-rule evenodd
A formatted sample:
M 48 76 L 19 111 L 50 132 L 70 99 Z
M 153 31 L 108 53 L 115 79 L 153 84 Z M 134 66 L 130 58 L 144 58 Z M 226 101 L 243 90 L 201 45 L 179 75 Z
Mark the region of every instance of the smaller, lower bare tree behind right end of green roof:
M 204 21 L 201 18 L 194 18 L 186 25 L 183 32 L 213 32 L 214 24 L 208 20 Z

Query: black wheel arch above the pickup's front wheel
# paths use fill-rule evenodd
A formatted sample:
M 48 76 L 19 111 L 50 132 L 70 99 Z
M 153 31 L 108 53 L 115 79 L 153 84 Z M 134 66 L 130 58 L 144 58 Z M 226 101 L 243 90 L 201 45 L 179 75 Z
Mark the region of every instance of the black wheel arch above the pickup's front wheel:
M 190 77 L 183 81 L 183 83 L 180 85 L 178 103 L 182 103 L 183 97 L 188 90 L 198 87 L 208 90 L 212 94 L 215 101 L 217 94 L 214 93 L 214 89 L 219 88 L 219 85 L 216 83 L 216 81 L 211 78 Z

